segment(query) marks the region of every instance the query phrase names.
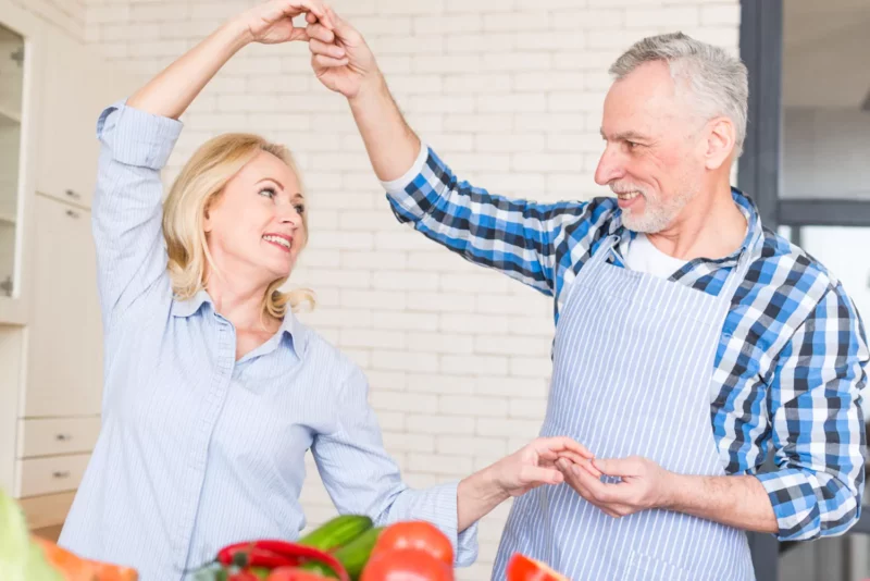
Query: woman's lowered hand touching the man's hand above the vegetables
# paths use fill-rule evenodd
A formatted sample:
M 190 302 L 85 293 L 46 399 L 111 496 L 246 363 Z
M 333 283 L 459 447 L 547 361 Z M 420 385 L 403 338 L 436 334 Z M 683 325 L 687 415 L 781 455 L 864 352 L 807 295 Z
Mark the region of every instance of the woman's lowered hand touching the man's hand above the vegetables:
M 593 454 L 586 446 L 570 437 L 538 437 L 510 456 L 494 463 L 490 469 L 499 489 L 510 496 L 520 496 L 542 484 L 559 484 L 564 480 L 556 468 L 556 460 L 564 458 L 579 463 L 591 474 Z

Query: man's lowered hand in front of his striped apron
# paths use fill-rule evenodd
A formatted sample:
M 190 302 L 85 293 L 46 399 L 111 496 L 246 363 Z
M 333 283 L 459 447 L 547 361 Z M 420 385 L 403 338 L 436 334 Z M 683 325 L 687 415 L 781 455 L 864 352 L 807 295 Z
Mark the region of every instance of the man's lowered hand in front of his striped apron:
M 673 474 L 652 460 L 631 456 L 624 459 L 595 459 L 593 465 L 605 475 L 621 477 L 622 482 L 605 483 L 566 459 L 556 462 L 566 482 L 577 494 L 611 517 L 670 507 Z

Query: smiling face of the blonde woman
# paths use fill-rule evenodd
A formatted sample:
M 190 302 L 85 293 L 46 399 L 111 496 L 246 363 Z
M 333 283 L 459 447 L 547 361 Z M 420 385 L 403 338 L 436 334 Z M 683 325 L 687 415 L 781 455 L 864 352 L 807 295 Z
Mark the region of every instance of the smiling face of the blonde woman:
M 294 171 L 260 151 L 206 211 L 206 237 L 215 264 L 259 284 L 288 276 L 308 235 L 304 210 Z

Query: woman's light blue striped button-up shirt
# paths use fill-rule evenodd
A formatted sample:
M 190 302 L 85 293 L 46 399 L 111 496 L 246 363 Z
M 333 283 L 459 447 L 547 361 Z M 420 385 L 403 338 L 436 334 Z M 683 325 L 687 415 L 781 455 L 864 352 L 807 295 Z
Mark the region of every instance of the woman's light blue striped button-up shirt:
M 60 544 L 165 581 L 233 542 L 297 539 L 311 448 L 339 512 L 432 521 L 471 564 L 476 527 L 457 535 L 457 483 L 402 483 L 347 357 L 288 314 L 236 361 L 233 324 L 204 290 L 173 299 L 160 170 L 181 131 L 123 102 L 97 125 L 102 429 Z

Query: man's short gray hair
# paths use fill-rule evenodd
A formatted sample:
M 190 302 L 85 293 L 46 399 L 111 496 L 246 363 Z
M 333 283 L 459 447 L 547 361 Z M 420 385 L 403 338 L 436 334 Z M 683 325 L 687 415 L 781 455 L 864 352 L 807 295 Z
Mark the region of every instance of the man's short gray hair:
M 738 158 L 746 138 L 749 79 L 746 65 L 725 50 L 695 40 L 683 33 L 650 36 L 635 42 L 610 66 L 617 81 L 639 65 L 664 61 L 676 85 L 687 85 L 693 94 L 696 111 L 705 120 L 723 115 L 734 123 Z M 680 81 L 685 83 L 680 83 Z

